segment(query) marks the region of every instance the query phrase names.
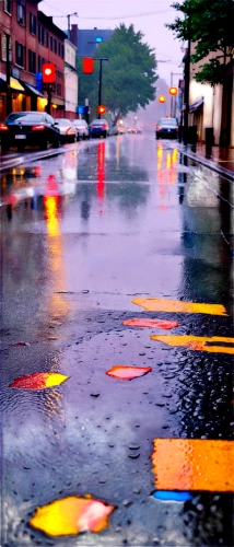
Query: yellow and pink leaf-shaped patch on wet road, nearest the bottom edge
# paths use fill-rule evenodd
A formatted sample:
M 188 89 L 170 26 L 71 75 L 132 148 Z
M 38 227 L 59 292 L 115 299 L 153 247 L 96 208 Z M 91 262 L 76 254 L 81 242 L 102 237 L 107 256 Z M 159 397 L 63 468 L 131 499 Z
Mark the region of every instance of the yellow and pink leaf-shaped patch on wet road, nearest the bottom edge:
M 115 505 L 92 496 L 70 496 L 36 508 L 30 524 L 52 537 L 77 536 L 83 531 L 98 533 L 108 527 L 114 510 Z

